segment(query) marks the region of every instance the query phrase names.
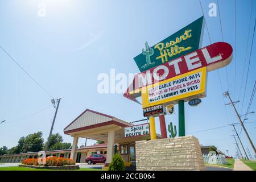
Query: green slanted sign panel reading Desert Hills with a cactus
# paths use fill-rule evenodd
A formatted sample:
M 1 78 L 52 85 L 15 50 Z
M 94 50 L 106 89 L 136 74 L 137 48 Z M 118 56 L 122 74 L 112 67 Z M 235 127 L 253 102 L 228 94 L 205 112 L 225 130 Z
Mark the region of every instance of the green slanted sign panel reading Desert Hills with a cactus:
M 134 57 L 141 72 L 174 60 L 201 47 L 201 34 L 204 32 L 204 16 L 185 26 L 175 34 L 152 47 L 145 43 L 142 53 Z

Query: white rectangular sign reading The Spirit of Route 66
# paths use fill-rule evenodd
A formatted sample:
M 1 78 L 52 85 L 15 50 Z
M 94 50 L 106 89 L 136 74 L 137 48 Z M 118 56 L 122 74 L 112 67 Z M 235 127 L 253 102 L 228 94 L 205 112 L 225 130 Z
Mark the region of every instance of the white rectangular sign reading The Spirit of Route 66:
M 150 134 L 150 126 L 148 123 L 142 125 L 134 125 L 125 127 L 125 137 L 139 137 Z

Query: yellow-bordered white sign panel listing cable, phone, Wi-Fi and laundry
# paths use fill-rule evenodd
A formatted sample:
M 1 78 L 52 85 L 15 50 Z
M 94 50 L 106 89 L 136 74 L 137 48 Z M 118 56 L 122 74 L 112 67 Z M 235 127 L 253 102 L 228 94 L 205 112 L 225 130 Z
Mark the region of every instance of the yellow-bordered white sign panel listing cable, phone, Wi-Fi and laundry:
M 205 97 L 206 67 L 142 88 L 142 107 Z

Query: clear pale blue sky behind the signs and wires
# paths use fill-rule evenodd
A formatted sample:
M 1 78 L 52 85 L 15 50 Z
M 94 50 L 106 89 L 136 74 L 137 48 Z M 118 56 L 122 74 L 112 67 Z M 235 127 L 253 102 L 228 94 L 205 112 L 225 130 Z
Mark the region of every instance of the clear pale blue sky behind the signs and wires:
M 212 42 L 221 42 L 219 17 L 208 16 L 209 3 L 202 1 L 205 19 Z M 40 3 L 46 5 L 46 16 L 38 15 Z M 235 46 L 234 1 L 219 1 L 224 42 Z M 231 106 L 224 106 L 228 99 L 222 91 L 229 89 L 241 112 L 243 92 L 253 27 L 256 16 L 255 3 L 251 15 L 249 46 L 245 61 L 247 31 L 249 28 L 251 1 L 237 0 L 237 46 L 232 63 L 217 71 L 209 72 L 207 97 L 202 104 L 190 107 L 185 104 L 185 131 L 193 133 L 238 122 Z M 133 57 L 141 53 L 144 42 L 154 45 L 180 28 L 199 18 L 199 1 L 1 1 L 0 45 L 53 97 L 62 97 L 53 133 L 63 135 L 65 142 L 72 142 L 63 129 L 86 108 L 113 115 L 130 122 L 143 118 L 141 105 L 124 98 L 122 94 L 99 94 L 97 76 L 100 73 L 139 72 Z M 255 41 L 255 38 L 254 38 Z M 210 44 L 205 28 L 203 47 Z M 255 81 L 255 42 L 242 114 L 245 114 Z M 235 75 L 236 64 L 236 81 Z M 245 67 L 245 76 L 242 72 Z M 228 72 L 228 79 L 226 77 Z M 0 146 L 13 147 L 20 137 L 43 131 L 49 134 L 55 109 L 49 97 L 0 49 Z M 228 84 L 229 83 L 229 84 Z M 241 90 L 241 92 L 240 92 Z M 240 93 L 240 94 L 239 94 Z M 49 106 L 49 107 L 47 107 Z M 255 100 L 250 111 L 255 111 Z M 24 118 L 41 109 L 42 112 Z M 177 109 L 177 106 L 175 106 Z M 177 113 L 177 110 L 176 110 Z M 245 124 L 251 139 L 256 140 L 255 114 L 248 115 Z M 178 116 L 167 115 L 166 123 L 177 125 Z M 14 122 L 15 121 L 15 122 Z M 237 126 L 240 131 L 240 127 Z M 156 119 L 156 131 L 160 133 Z M 235 155 L 236 146 L 231 127 L 195 133 L 200 144 L 214 145 Z M 251 150 L 245 134 L 242 142 Z M 79 146 L 85 139 L 79 140 Z M 88 140 L 88 145 L 92 144 Z

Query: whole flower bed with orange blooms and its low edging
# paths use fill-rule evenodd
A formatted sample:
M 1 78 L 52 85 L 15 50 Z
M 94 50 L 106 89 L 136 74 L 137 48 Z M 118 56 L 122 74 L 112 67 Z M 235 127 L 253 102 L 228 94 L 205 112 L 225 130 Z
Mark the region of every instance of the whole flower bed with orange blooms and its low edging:
M 79 169 L 73 159 L 57 158 L 55 156 L 46 158 L 45 164 L 39 164 L 38 159 L 24 159 L 20 167 L 43 168 L 43 169 Z

